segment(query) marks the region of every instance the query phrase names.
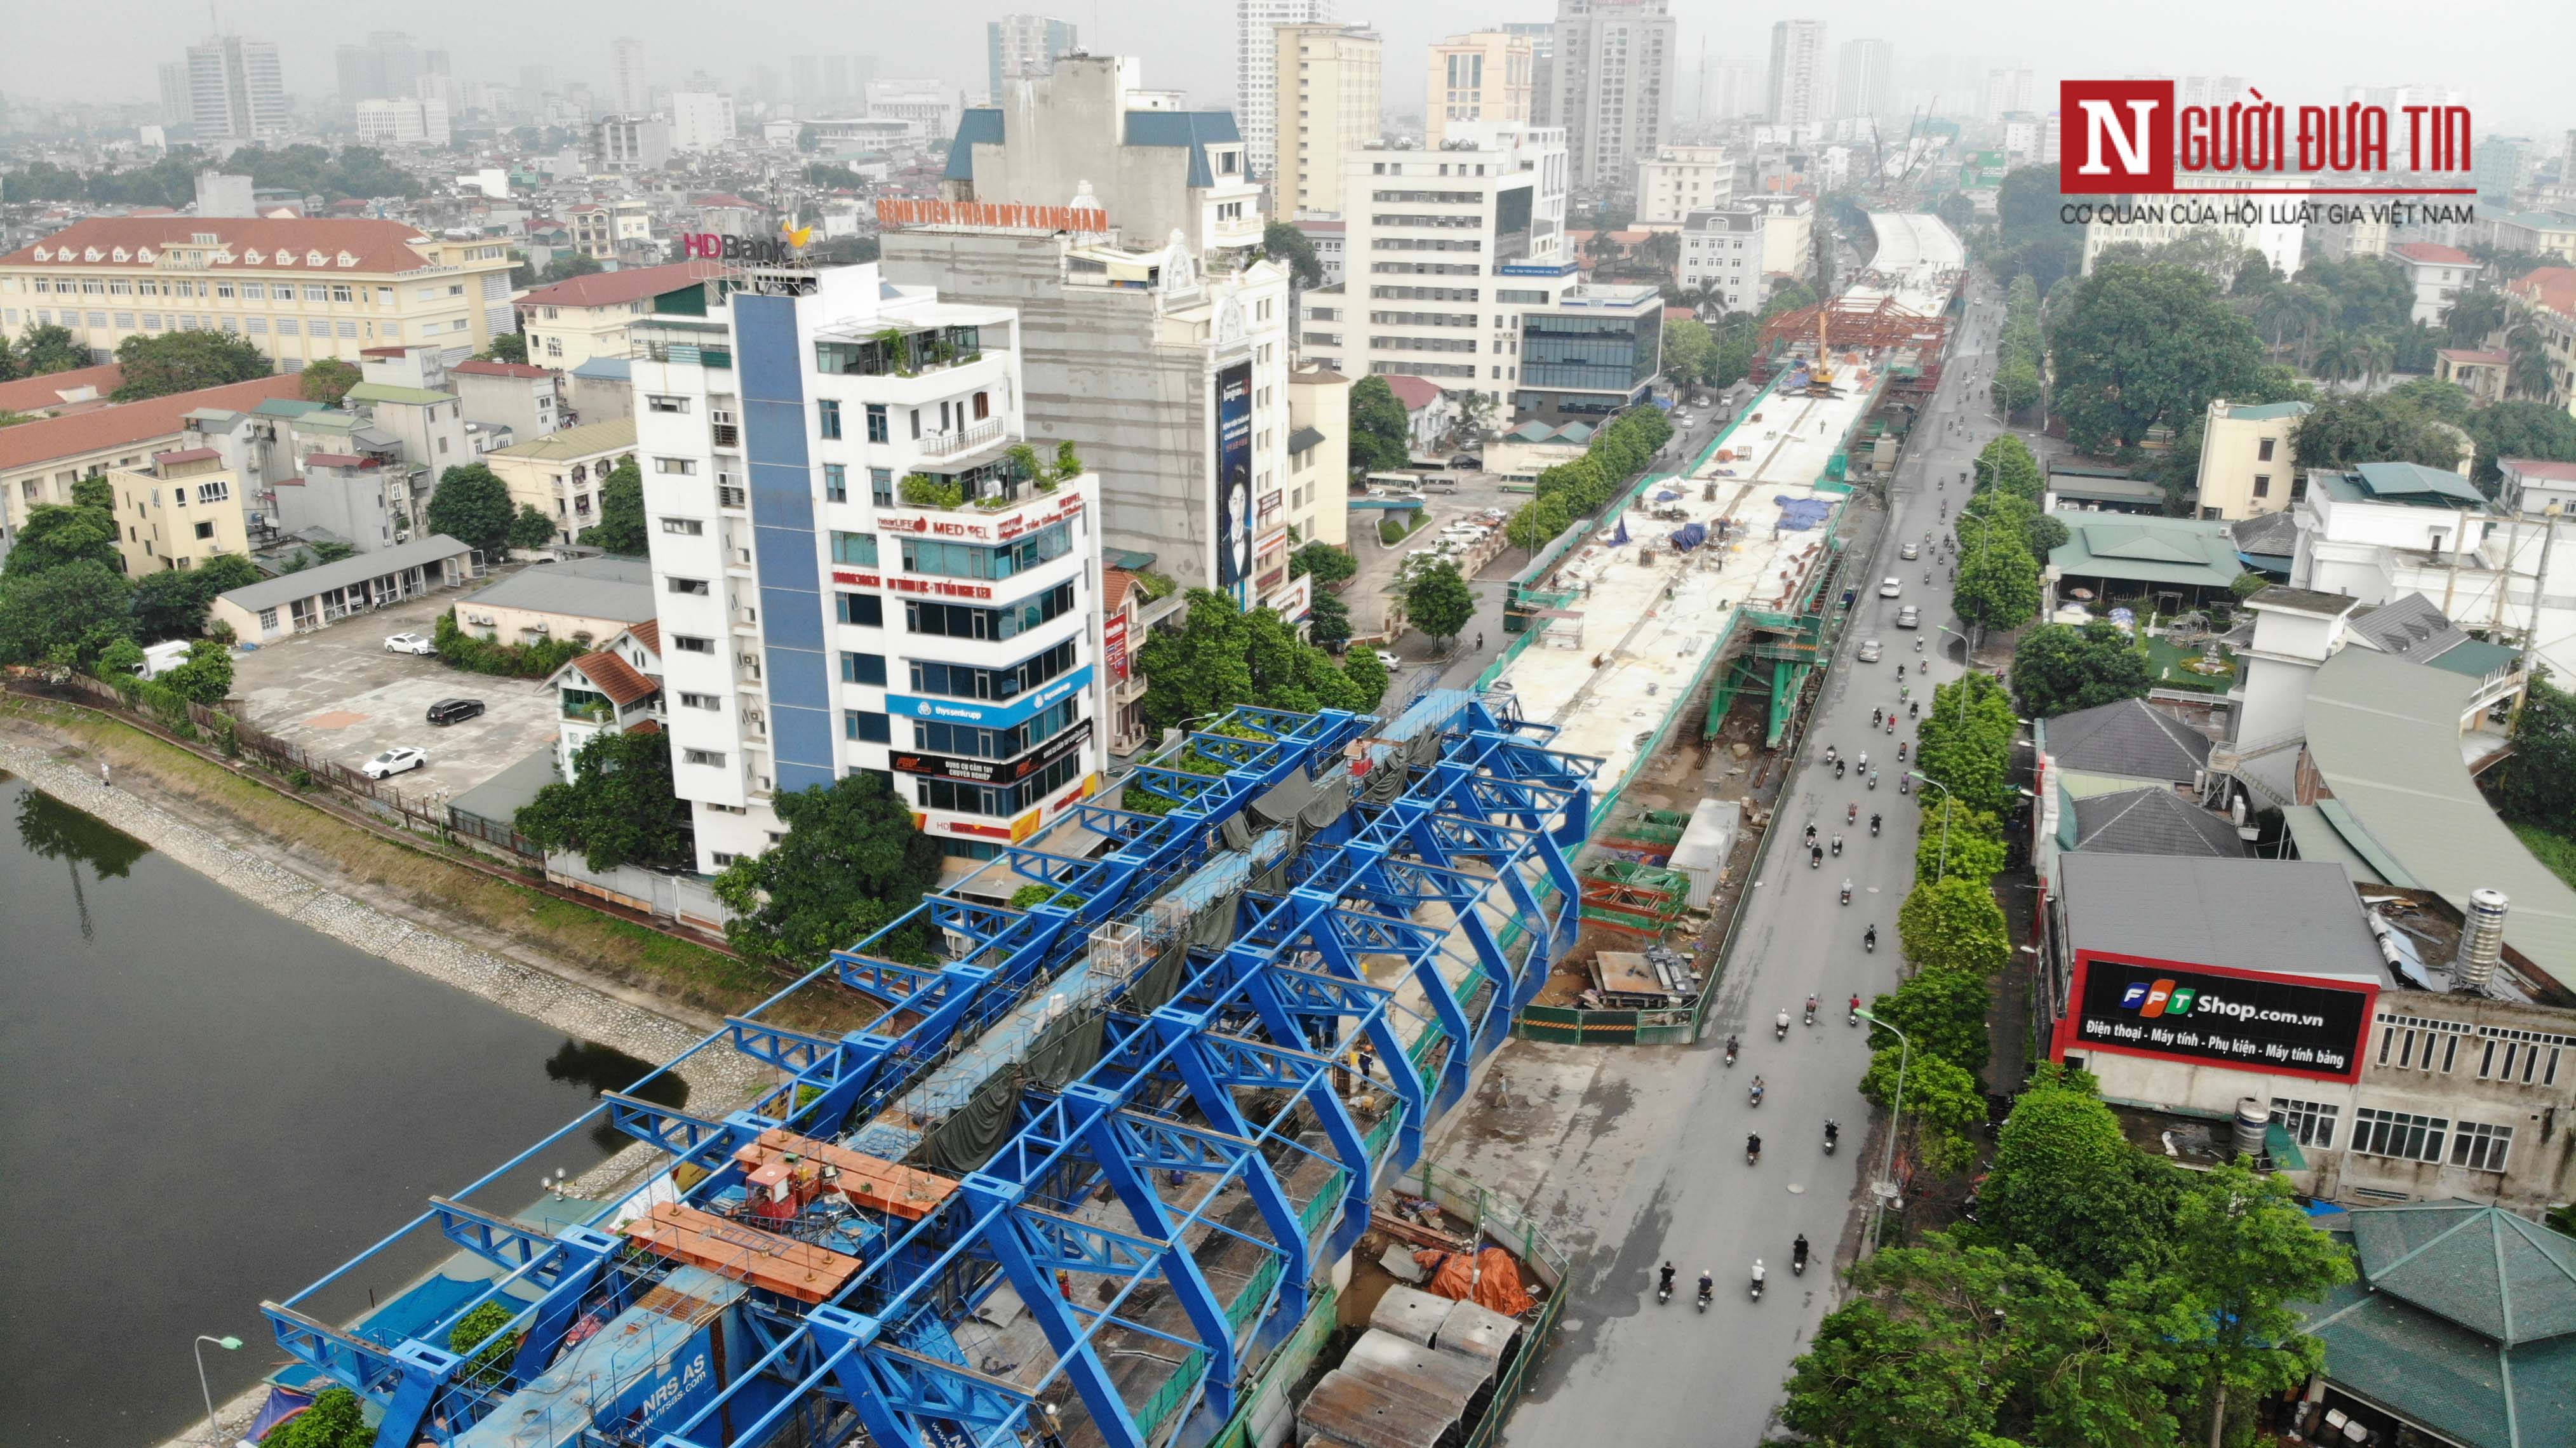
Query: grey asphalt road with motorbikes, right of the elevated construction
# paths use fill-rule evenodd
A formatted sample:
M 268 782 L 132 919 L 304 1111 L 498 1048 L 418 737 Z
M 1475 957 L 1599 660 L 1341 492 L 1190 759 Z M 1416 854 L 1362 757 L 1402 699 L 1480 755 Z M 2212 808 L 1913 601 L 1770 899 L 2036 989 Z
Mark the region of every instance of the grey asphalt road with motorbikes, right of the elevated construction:
M 1517 1067 L 1510 1054 L 1502 1062 L 1502 1069 L 1520 1072 L 1502 1095 L 1582 1098 L 1564 1134 L 1546 1147 L 1553 1165 L 1533 1201 L 1543 1216 L 1571 1229 L 1589 1273 L 1566 1306 L 1564 1340 L 1512 1417 L 1507 1440 L 1515 1445 L 1589 1443 L 1607 1430 L 1623 1448 L 1754 1448 L 1777 1409 L 1790 1360 L 1832 1306 L 1834 1260 L 1855 1250 L 1855 1208 L 1878 1175 L 1878 1152 L 1865 1149 L 1878 1144 L 1878 1134 L 1860 1098 L 1868 1041 L 1844 1023 L 1844 1002 L 1852 992 L 1868 1000 L 1896 982 L 1896 904 L 1914 876 L 1914 796 L 1896 794 L 1893 768 L 1896 742 L 1914 732 L 1904 724 L 1893 737 L 1873 732 L 1870 709 L 1896 703 L 1899 665 L 1906 665 L 1909 683 L 1924 662 L 1935 680 L 1958 678 L 1963 667 L 1958 639 L 1935 631 L 1937 624 L 1955 626 L 1947 569 L 1935 567 L 1935 582 L 1924 585 L 1924 564 L 1899 562 L 1896 544 L 1906 536 L 1919 541 L 1927 528 L 1947 533 L 1940 505 L 1958 508 L 1965 497 L 1958 474 L 1996 430 L 1984 381 L 1999 327 L 2002 296 L 1976 291 L 1932 420 L 1917 433 L 1929 446 L 1917 443 L 1899 464 L 1883 562 L 1850 569 L 1865 582 L 1862 600 L 1819 696 L 1803 763 L 1783 796 L 1783 819 L 1793 832 L 1806 819 L 1816 819 L 1824 835 L 1842 830 L 1847 855 L 1826 855 L 1824 868 L 1808 868 L 1788 843 L 1775 848 L 1747 891 L 1749 915 L 1698 1049 L 1592 1049 L 1589 1062 L 1607 1064 L 1579 1062 L 1574 1051 L 1584 1049 L 1522 1056 Z M 1968 402 L 1971 386 L 1976 405 Z M 1953 420 L 1963 423 L 1955 433 Z M 1947 484 L 1935 487 L 1935 479 Z M 1870 528 L 1873 518 L 1860 518 L 1860 528 Z M 1870 557 L 1873 546 L 1875 538 L 1860 538 L 1855 557 Z M 1891 575 L 1901 580 L 1901 598 L 1875 598 L 1875 580 Z M 1924 608 L 1919 634 L 1893 626 L 1904 603 Z M 1878 665 L 1852 662 L 1865 636 L 1886 644 Z M 1924 642 L 1922 654 L 1914 639 Z M 1819 763 L 1824 745 L 1844 755 L 1868 750 L 1883 765 L 1878 788 L 1862 788 L 1857 776 L 1837 781 Z M 1857 830 L 1842 822 L 1850 804 L 1860 806 Z M 1873 809 L 1886 814 L 1878 840 L 1868 835 Z M 1844 876 L 1855 884 L 1850 907 L 1837 904 Z M 1878 953 L 1862 953 L 1868 925 L 1878 925 Z M 1808 995 L 1824 1002 L 1816 1025 L 1798 1020 Z M 1790 1013 L 1788 1041 L 1772 1036 L 1780 1010 Z M 1744 1038 L 1734 1067 L 1726 1067 L 1728 1033 Z M 1747 1087 L 1757 1074 L 1767 1095 L 1752 1108 Z M 1540 1108 L 1530 1105 L 1533 1113 Z M 1510 1110 L 1502 1116 L 1504 1126 L 1484 1129 L 1484 1152 L 1515 1131 Z M 1829 1116 L 1844 1123 L 1834 1157 L 1821 1152 Z M 1765 1141 L 1752 1167 L 1744 1162 L 1747 1131 L 1759 1131 Z M 1476 1152 L 1479 1144 L 1461 1147 L 1458 1165 L 1476 1170 Z M 1801 1232 L 1824 1260 L 1793 1278 L 1790 1239 Z M 1672 1304 L 1656 1306 L 1654 1268 L 1664 1257 L 1680 1268 L 1680 1286 Z M 1770 1268 L 1759 1304 L 1747 1296 L 1754 1257 Z M 1718 1283 L 1708 1314 L 1695 1314 L 1690 1304 L 1700 1270 L 1713 1270 Z

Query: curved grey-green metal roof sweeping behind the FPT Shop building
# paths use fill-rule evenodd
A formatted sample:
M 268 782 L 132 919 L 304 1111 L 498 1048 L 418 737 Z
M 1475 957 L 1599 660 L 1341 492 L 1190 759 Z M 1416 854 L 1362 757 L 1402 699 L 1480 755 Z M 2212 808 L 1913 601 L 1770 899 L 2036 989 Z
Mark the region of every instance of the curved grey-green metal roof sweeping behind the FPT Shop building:
M 2308 685 L 2308 757 L 2342 809 L 2455 910 L 2473 889 L 2512 899 L 2504 940 L 2576 989 L 2576 889 L 2496 819 L 2460 760 L 2478 680 L 2342 649 Z

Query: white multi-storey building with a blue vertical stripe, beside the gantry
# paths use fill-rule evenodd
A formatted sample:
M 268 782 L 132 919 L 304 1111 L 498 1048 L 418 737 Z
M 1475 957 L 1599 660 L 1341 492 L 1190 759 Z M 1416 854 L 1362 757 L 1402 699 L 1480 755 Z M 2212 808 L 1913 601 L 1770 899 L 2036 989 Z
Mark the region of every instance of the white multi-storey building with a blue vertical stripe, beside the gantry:
M 1018 317 L 868 263 L 752 271 L 641 335 L 636 451 L 698 868 L 768 850 L 778 791 L 853 770 L 969 858 L 1090 796 L 1100 479 L 1015 451 Z

